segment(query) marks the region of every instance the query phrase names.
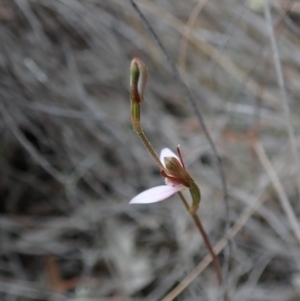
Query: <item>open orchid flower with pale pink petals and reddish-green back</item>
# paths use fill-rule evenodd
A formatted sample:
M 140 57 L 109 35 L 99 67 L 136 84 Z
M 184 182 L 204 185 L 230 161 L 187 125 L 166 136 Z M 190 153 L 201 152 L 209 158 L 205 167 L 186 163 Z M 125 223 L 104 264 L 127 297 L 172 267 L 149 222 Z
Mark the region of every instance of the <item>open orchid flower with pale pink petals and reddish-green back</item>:
M 190 189 L 193 205 L 199 205 L 199 188 L 185 170 L 179 147 L 177 147 L 177 152 L 178 156 L 170 149 L 164 148 L 160 153 L 160 161 L 164 166 L 160 173 L 165 178 L 166 184 L 143 191 L 135 196 L 130 204 L 155 203 L 163 201 L 181 190 Z

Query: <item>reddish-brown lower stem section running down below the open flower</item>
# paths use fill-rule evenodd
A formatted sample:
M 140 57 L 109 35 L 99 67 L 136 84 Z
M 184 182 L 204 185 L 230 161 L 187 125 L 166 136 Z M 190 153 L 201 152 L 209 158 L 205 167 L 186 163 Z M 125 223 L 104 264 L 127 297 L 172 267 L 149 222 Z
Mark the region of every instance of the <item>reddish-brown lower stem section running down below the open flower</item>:
M 209 253 L 212 257 L 212 261 L 213 261 L 214 268 L 216 270 L 218 282 L 221 285 L 223 283 L 223 276 L 222 276 L 221 266 L 220 266 L 218 257 L 215 254 L 214 249 L 211 245 L 211 242 L 210 242 L 210 240 L 209 240 L 209 238 L 208 238 L 208 236 L 207 236 L 207 234 L 206 234 L 206 232 L 205 232 L 205 230 L 202 226 L 202 223 L 201 223 L 198 215 L 196 214 L 196 212 L 193 213 L 189 210 L 189 205 L 188 205 L 186 199 L 184 198 L 183 194 L 181 192 L 178 192 L 178 195 L 179 195 L 180 199 L 182 200 L 184 207 L 190 213 L 192 219 L 194 220 L 194 223 L 195 223 L 197 229 L 199 230 L 200 234 L 203 237 L 204 243 L 205 243 L 205 245 L 206 245 L 206 247 L 207 247 L 207 249 L 208 249 L 208 251 L 209 251 Z

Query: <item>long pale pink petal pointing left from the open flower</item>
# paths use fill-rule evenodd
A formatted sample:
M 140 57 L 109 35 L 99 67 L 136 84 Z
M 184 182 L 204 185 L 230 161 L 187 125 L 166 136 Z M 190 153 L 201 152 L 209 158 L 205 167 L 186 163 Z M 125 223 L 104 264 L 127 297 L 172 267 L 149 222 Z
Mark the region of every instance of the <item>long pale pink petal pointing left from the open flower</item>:
M 138 194 L 129 202 L 129 204 L 150 204 L 163 201 L 182 189 L 182 185 L 163 185 L 153 187 Z

